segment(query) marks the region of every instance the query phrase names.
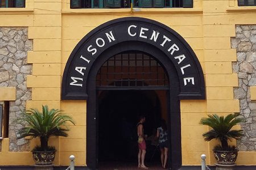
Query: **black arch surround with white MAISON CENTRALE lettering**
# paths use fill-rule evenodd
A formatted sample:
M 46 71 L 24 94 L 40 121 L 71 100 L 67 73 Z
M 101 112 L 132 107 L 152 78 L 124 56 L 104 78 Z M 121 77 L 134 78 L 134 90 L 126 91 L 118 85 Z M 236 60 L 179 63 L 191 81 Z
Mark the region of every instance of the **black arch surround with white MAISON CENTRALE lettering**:
M 168 75 L 171 167 L 178 169 L 180 99 L 205 99 L 204 75 L 195 53 L 180 35 L 166 25 L 144 18 L 121 18 L 100 25 L 77 44 L 68 59 L 61 95 L 64 100 L 87 100 L 86 164 L 90 169 L 97 167 L 97 72 L 110 57 L 134 50 L 154 56 Z

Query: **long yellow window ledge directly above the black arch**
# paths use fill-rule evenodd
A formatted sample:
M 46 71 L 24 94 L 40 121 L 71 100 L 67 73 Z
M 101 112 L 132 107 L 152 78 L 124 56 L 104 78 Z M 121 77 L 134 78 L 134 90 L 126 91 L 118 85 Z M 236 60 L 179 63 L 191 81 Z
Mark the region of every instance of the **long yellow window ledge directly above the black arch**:
M 93 8 L 80 8 L 80 9 L 63 9 L 62 14 L 64 15 L 77 15 L 77 14 L 104 14 L 104 13 L 118 13 L 118 12 L 131 12 L 131 13 L 139 13 L 139 12 L 154 12 L 154 13 L 195 13 L 195 14 L 203 14 L 202 8 L 101 8 L 101 9 L 93 9 Z

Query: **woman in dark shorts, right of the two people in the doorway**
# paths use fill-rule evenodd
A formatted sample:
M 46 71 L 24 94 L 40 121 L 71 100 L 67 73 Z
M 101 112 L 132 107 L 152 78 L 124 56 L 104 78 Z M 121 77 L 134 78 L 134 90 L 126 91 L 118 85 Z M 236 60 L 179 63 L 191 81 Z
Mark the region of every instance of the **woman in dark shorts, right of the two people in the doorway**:
M 158 128 L 156 136 L 159 138 L 159 147 L 161 151 L 161 163 L 162 167 L 166 168 L 168 158 L 168 132 L 166 121 L 161 121 L 161 126 Z

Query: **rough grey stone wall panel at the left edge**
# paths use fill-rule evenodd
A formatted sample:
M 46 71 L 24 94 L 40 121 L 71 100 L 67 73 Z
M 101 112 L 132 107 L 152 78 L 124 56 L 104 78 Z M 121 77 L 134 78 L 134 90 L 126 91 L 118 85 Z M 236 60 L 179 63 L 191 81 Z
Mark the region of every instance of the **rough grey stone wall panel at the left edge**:
M 32 66 L 27 64 L 27 51 L 32 50 L 27 28 L 0 27 L 0 87 L 16 87 L 16 100 L 10 101 L 9 150 L 27 151 L 26 139 L 16 139 L 15 131 L 20 128 L 13 121 L 25 111 L 26 101 L 31 100 L 31 89 L 27 88 L 27 75 Z

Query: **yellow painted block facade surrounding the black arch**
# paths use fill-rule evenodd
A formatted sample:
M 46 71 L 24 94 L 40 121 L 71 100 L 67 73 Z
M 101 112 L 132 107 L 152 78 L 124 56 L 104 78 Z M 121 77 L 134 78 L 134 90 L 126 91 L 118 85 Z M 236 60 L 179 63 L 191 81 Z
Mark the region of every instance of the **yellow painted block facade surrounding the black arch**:
M 230 37 L 235 36 L 236 24 L 256 24 L 256 8 L 237 7 L 236 0 L 199 0 L 194 1 L 194 8 L 144 8 L 133 12 L 70 9 L 69 5 L 69 0 L 27 0 L 26 8 L 0 8 L 0 27 L 28 27 L 28 38 L 33 40 L 33 51 L 28 52 L 27 60 L 32 63 L 32 75 L 27 77 L 32 100 L 27 101 L 27 109 L 40 109 L 42 104 L 47 104 L 70 114 L 76 121 L 68 138 L 51 139 L 58 150 L 55 165 L 67 165 L 71 154 L 76 156 L 76 165 L 86 164 L 86 101 L 60 100 L 61 76 L 69 54 L 95 27 L 126 16 L 140 16 L 168 25 L 197 54 L 205 74 L 207 100 L 181 101 L 182 163 L 199 165 L 200 155 L 207 154 L 207 163 L 214 164 L 211 150 L 216 142 L 204 142 L 201 134 L 208 128 L 199 125 L 199 121 L 211 113 L 239 112 L 239 101 L 233 99 L 233 87 L 238 86 L 237 74 L 232 73 L 236 50 L 231 49 Z M 254 92 L 254 100 L 255 96 Z M 3 93 L 0 100 L 5 100 Z M 38 139 L 32 141 L 31 147 Z M 33 164 L 30 152 L 9 152 L 8 144 L 8 139 L 3 139 L 1 165 Z M 251 158 L 256 158 L 256 152 L 240 152 L 237 164 L 255 165 L 256 159 Z

